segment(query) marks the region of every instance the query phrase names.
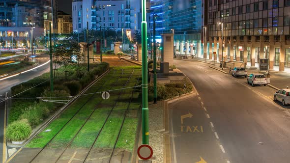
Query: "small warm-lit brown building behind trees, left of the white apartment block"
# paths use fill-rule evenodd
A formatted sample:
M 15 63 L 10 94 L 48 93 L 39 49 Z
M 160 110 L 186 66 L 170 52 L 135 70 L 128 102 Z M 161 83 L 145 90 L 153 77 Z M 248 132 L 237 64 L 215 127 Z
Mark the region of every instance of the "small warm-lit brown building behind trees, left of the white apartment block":
M 58 33 L 71 33 L 72 30 L 72 18 L 71 15 L 62 11 L 58 11 Z

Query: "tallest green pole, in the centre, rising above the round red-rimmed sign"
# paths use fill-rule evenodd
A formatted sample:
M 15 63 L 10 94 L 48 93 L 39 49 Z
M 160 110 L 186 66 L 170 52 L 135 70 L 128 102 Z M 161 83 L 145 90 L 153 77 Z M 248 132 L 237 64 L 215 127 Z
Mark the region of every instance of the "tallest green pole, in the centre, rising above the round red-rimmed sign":
M 142 0 L 142 143 L 149 144 L 146 1 Z

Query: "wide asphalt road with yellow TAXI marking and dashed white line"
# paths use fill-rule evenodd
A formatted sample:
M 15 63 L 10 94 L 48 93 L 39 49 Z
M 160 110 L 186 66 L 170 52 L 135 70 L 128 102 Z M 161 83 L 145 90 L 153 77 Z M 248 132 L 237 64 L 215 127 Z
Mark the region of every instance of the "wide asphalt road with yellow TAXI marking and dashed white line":
M 290 107 L 273 102 L 276 90 L 252 87 L 206 63 L 174 64 L 199 95 L 169 106 L 173 163 L 289 163 Z

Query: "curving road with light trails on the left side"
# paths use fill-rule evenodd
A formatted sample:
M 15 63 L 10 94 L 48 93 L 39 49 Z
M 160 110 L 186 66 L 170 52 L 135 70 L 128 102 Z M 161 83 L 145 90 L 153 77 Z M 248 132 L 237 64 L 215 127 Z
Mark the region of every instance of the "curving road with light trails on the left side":
M 48 55 L 38 55 L 37 59 L 39 60 L 39 65 L 47 62 L 49 60 Z M 12 78 L 8 78 L 0 81 L 0 98 L 5 97 L 5 92 L 9 91 L 10 88 L 14 85 L 17 85 L 24 81 L 29 81 L 37 76 L 42 75 L 45 72 L 49 71 L 49 64 L 45 64 L 42 67 L 36 68 L 32 71 L 26 72 L 24 74 L 17 75 Z M 0 99 L 2 101 L 2 99 Z M 0 103 L 0 163 L 2 162 L 2 153 L 3 153 L 3 123 L 4 123 L 4 103 Z

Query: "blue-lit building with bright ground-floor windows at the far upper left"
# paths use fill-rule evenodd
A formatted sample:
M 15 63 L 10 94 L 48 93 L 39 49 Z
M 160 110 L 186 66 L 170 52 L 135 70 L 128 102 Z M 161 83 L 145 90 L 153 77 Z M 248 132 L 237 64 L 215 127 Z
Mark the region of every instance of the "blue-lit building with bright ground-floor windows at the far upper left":
M 1 0 L 0 37 L 2 47 L 29 46 L 31 40 L 43 36 L 49 30 L 49 22 L 57 27 L 57 5 L 52 0 Z M 54 4 L 58 0 L 53 0 Z M 31 38 L 31 34 L 33 35 Z M 13 41 L 14 40 L 14 41 Z M 26 43 L 25 43 L 26 42 Z

